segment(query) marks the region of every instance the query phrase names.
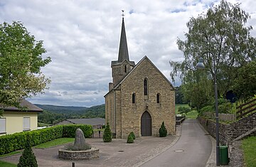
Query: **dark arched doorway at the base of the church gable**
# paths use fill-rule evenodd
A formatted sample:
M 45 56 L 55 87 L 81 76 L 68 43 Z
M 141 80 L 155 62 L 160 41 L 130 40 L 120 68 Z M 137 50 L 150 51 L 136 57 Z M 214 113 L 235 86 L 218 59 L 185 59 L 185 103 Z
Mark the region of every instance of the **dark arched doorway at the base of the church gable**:
M 144 112 L 141 119 L 141 132 L 142 136 L 151 136 L 151 116 L 149 112 Z

